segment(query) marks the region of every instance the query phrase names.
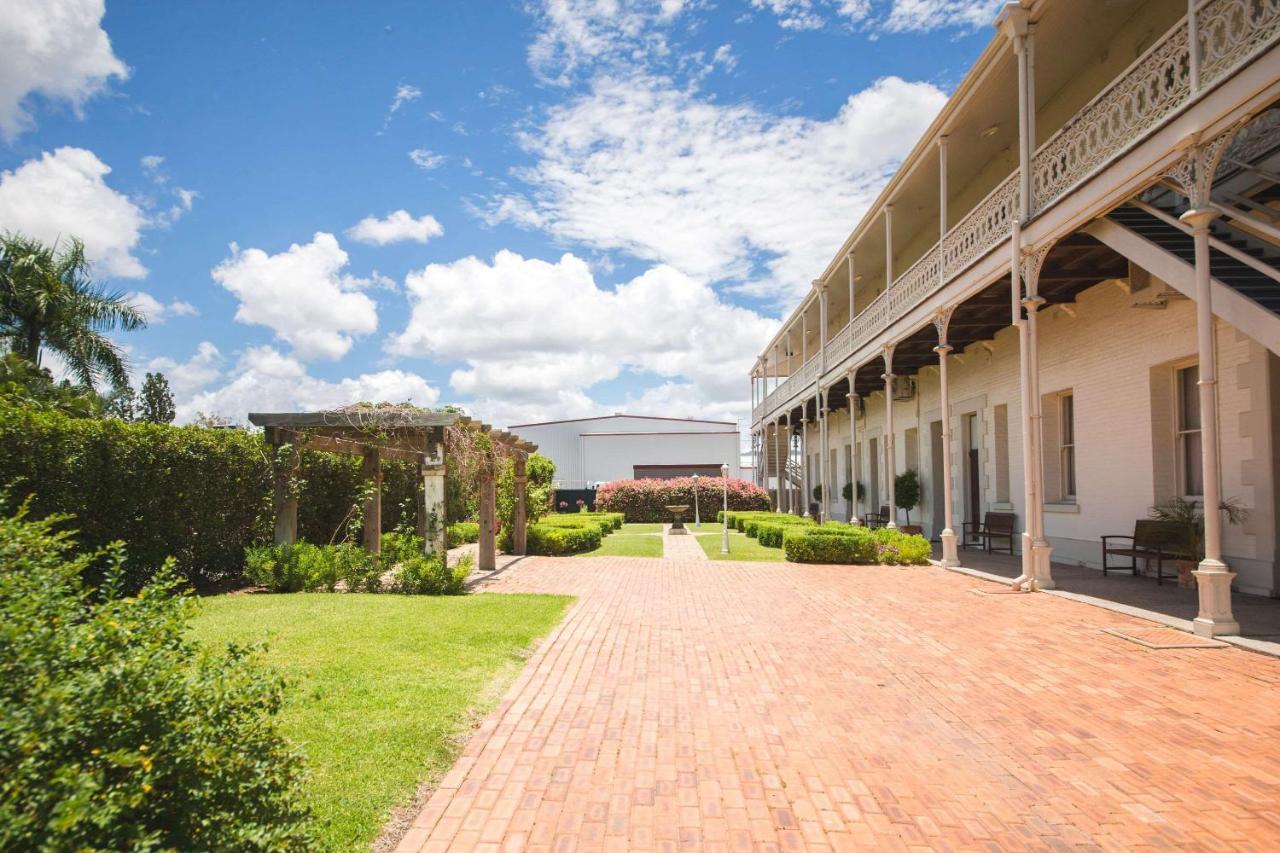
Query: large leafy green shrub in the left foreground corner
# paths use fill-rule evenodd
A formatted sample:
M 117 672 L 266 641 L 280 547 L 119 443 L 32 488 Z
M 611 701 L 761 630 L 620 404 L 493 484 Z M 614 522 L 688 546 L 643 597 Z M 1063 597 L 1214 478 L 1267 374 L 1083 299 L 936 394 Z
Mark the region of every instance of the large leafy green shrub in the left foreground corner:
M 72 556 L 24 516 L 0 519 L 0 849 L 310 848 L 259 651 L 192 640 L 168 567 L 124 597 L 122 544 Z

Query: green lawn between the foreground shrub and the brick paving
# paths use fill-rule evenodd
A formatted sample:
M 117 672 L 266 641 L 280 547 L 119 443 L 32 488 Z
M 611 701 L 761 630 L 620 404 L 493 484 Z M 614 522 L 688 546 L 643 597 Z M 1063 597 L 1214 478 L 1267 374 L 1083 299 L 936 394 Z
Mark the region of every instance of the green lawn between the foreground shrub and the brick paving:
M 453 763 L 468 717 L 497 702 L 571 601 L 221 596 L 204 599 L 195 633 L 268 640 L 268 662 L 289 679 L 280 722 L 306 751 L 323 848 L 367 850 L 392 809 Z

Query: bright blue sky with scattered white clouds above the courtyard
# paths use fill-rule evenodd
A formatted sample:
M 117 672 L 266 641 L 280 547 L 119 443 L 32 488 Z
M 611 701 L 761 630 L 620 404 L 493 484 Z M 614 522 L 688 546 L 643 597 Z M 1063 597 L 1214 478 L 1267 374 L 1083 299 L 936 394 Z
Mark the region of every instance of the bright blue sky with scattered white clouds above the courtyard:
M 745 419 L 1000 5 L 17 0 L 0 229 L 86 241 L 182 419 Z

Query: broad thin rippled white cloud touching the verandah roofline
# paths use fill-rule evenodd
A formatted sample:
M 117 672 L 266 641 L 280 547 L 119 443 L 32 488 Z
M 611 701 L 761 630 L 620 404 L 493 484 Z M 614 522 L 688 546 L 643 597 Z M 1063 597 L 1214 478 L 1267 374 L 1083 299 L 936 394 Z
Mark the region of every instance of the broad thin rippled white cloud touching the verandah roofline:
M 490 199 L 485 215 L 794 295 L 945 101 L 888 77 L 815 120 L 714 104 L 662 78 L 599 78 L 522 137 L 536 158 L 517 173 L 530 192 Z

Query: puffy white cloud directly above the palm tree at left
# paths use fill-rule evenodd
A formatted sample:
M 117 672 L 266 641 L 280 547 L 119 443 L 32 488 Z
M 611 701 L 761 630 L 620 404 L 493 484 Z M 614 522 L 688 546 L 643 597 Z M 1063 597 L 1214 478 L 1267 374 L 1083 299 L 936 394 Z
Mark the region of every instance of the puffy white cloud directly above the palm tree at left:
M 79 237 L 100 274 L 142 278 L 147 270 L 133 251 L 150 223 L 106 184 L 110 172 L 92 151 L 63 147 L 0 173 L 0 229 L 46 242 Z

